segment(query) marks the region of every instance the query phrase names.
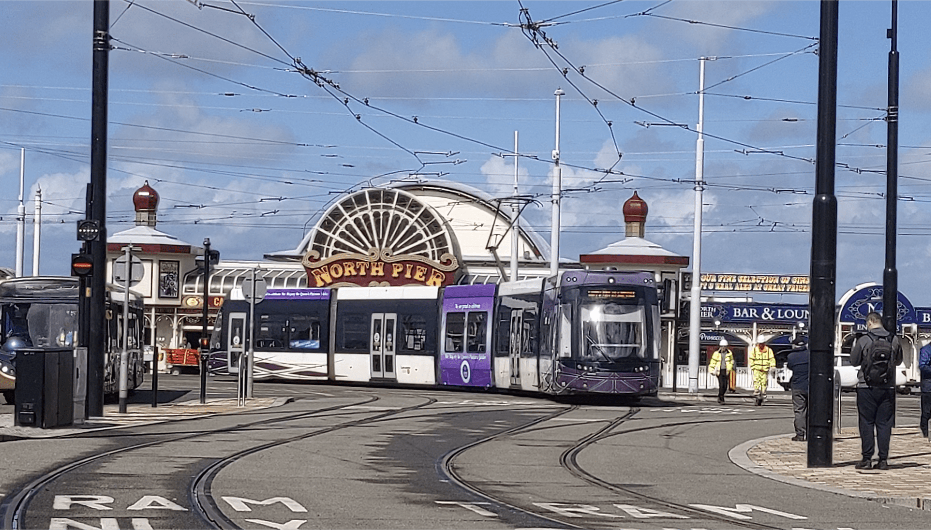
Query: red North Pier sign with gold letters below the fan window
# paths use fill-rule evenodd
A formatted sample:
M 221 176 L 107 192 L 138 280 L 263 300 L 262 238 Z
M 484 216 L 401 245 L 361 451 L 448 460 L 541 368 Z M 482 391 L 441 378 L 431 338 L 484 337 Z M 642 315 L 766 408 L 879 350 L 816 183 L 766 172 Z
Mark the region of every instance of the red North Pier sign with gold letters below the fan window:
M 334 254 L 325 259 L 310 250 L 302 262 L 311 287 L 452 285 L 459 261 L 452 254 L 443 254 L 440 259 L 414 254 L 392 256 L 389 249 L 371 248 L 368 254 Z

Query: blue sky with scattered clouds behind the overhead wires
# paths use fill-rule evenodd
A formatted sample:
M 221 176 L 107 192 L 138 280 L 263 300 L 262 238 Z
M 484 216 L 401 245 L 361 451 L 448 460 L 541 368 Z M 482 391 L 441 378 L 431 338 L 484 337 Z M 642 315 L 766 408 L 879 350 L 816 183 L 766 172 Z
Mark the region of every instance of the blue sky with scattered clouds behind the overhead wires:
M 620 205 L 634 190 L 650 205 L 646 237 L 689 256 L 695 135 L 648 125 L 694 126 L 697 58 L 718 56 L 707 66 L 707 86 L 720 85 L 707 90 L 705 129 L 721 139 L 706 141 L 703 269 L 808 272 L 816 2 L 627 0 L 569 16 L 602 2 L 524 2 L 532 20 L 559 22 L 543 27 L 557 50 L 521 32 L 517 2 L 238 2 L 258 26 L 230 2 L 206 4 L 112 2 L 110 232 L 131 226 L 144 179 L 161 194 L 159 229 L 194 244 L 209 237 L 223 258 L 293 248 L 337 192 L 367 181 L 442 174 L 506 196 L 513 163 L 494 153 L 513 149 L 515 130 L 520 152 L 540 158 L 522 159 L 521 192 L 546 201 L 561 86 L 563 187 L 573 190 L 562 256 L 622 238 Z M 884 176 L 870 170 L 885 166 L 874 146 L 885 143 L 889 8 L 840 6 L 837 159 L 854 170 L 837 172 L 838 297 L 882 278 Z M 14 264 L 19 146 L 28 212 L 36 186 L 47 201 L 42 272 L 67 273 L 78 248 L 91 14 L 89 2 L 0 3 L 0 265 Z M 919 305 L 931 305 L 926 20 L 928 3 L 900 3 L 899 285 Z M 289 55 L 343 93 L 294 72 Z M 742 144 L 782 155 L 735 152 Z M 613 165 L 624 175 L 598 171 Z M 548 239 L 548 203 L 525 215 Z

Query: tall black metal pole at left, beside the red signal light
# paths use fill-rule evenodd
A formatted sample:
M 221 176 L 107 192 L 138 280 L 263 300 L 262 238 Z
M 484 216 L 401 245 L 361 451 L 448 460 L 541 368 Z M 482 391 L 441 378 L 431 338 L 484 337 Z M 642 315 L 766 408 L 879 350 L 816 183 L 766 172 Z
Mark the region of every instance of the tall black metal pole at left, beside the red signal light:
M 107 71 L 110 56 L 110 1 L 94 0 L 94 65 L 90 114 L 90 219 L 97 219 L 101 232 L 89 243 L 93 269 L 88 286 L 88 417 L 103 416 L 104 299 L 107 262 Z

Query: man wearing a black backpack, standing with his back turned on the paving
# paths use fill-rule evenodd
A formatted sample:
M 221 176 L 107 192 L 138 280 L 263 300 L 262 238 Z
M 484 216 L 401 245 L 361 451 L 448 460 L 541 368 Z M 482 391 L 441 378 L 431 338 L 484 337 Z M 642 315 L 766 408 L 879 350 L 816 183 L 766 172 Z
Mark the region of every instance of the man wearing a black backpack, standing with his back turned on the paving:
M 850 351 L 850 364 L 857 370 L 857 417 L 863 459 L 857 470 L 872 468 L 875 444 L 879 445 L 877 470 L 888 470 L 889 439 L 896 417 L 896 364 L 902 362 L 902 346 L 883 327 L 878 312 L 867 315 L 867 333 L 857 338 Z

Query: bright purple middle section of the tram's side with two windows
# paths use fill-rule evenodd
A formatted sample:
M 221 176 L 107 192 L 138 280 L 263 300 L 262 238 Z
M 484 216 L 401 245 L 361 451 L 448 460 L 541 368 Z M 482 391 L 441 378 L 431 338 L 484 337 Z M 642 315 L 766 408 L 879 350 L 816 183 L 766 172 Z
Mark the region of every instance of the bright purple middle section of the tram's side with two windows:
M 492 377 L 491 315 L 497 285 L 451 285 L 443 292 L 440 383 L 488 388 Z

